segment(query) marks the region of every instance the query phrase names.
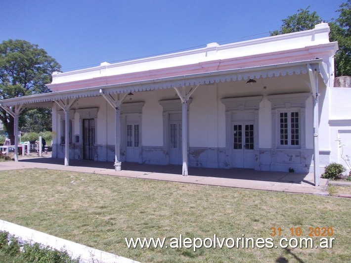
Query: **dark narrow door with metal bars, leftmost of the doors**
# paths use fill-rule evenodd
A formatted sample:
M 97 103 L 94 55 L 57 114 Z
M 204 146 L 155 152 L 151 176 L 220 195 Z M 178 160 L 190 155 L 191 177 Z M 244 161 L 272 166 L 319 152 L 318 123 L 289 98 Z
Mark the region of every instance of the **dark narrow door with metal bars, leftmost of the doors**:
M 95 120 L 83 119 L 83 159 L 94 160 Z

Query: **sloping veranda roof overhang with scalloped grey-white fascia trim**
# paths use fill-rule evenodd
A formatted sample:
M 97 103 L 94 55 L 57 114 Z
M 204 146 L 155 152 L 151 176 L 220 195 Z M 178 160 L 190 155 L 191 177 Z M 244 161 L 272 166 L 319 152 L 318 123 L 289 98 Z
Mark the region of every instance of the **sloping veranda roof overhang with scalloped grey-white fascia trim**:
M 82 98 L 100 96 L 100 89 L 105 94 L 126 93 L 137 91 L 148 91 L 156 89 L 167 89 L 177 87 L 189 87 L 196 85 L 215 84 L 231 81 L 241 81 L 249 79 L 271 78 L 279 76 L 301 75 L 308 73 L 308 67 L 312 67 L 319 72 L 324 83 L 328 81 L 325 72 L 325 65 L 322 59 L 304 60 L 298 62 L 288 62 L 281 64 L 240 68 L 233 70 L 222 70 L 214 72 L 205 72 L 181 76 L 173 76 L 167 78 L 158 78 L 143 80 L 137 82 L 127 82 L 112 85 L 102 85 L 89 88 L 79 88 L 73 90 L 56 91 L 49 93 L 41 93 L 23 97 L 4 99 L 0 101 L 0 106 L 14 106 L 19 104 L 27 104 L 30 107 L 49 106 L 50 102 L 59 99 Z

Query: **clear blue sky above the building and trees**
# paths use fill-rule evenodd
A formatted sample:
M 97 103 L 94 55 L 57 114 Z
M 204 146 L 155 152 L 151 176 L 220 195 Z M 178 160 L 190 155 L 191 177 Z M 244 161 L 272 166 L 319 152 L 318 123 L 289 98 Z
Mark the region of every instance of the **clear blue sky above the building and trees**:
M 346 0 L 0 0 L 0 42 L 38 44 L 62 71 L 269 36 L 300 8 Z

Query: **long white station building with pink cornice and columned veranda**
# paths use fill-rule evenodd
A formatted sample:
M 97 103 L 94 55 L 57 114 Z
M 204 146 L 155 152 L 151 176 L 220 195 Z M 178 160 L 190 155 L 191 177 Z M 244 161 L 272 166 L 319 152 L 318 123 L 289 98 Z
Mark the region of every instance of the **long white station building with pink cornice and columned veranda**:
M 14 117 L 51 106 L 52 157 L 312 172 L 351 155 L 351 88 L 334 88 L 329 26 L 54 72 L 51 93 L 0 101 Z M 16 118 L 15 118 L 16 119 Z M 345 165 L 345 164 L 344 164 Z

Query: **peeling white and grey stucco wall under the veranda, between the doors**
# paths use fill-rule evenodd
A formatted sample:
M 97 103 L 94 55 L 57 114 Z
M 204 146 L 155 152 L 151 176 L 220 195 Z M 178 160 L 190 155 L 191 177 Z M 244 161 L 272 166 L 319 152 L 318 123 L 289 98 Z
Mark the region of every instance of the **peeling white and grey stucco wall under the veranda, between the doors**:
M 276 92 L 277 87 L 281 87 L 284 78 L 277 78 L 278 82 L 274 83 L 272 80 L 267 80 L 270 86 L 264 88 L 258 84 L 248 86 L 246 81 L 238 81 L 231 83 L 219 83 L 213 85 L 203 85 L 195 90 L 192 94 L 192 100 L 189 104 L 188 111 L 188 143 L 189 143 L 189 165 L 190 166 L 203 166 L 203 167 L 219 167 L 229 168 L 230 155 L 232 144 L 226 146 L 228 138 L 232 136 L 232 131 L 228 129 L 226 124 L 226 116 L 234 118 L 235 116 L 247 115 L 253 116 L 254 111 L 243 112 L 237 111 L 226 114 L 226 107 L 222 103 L 223 98 L 237 98 L 237 97 L 262 97 L 262 101 L 258 101 L 257 108 L 257 129 L 258 134 L 255 140 L 258 139 L 257 148 L 255 148 L 255 169 L 257 170 L 279 170 L 287 171 L 289 166 L 294 166 L 296 172 L 308 171 L 312 159 L 313 148 L 313 132 L 312 132 L 312 99 L 311 96 L 307 98 L 306 109 L 306 149 L 273 149 L 272 148 L 272 106 L 271 102 L 267 99 L 266 95 L 269 92 Z M 299 85 L 297 81 L 295 85 Z M 289 83 L 286 89 L 293 88 L 294 85 Z M 302 88 L 301 88 L 302 89 Z M 138 113 L 123 112 L 121 115 L 121 160 L 126 160 L 126 126 L 127 119 L 135 121 L 140 120 L 140 158 L 137 162 L 145 162 L 150 164 L 168 164 L 169 163 L 169 148 L 165 141 L 169 140 L 169 135 L 165 129 L 169 129 L 164 125 L 164 108 L 160 104 L 161 100 L 178 100 L 180 110 L 180 100 L 176 95 L 173 88 L 161 89 L 153 91 L 133 92 L 134 95 L 128 95 L 124 101 L 126 105 L 132 105 L 133 102 L 143 102 L 141 106 L 141 115 L 137 117 Z M 263 93 L 263 96 L 262 96 Z M 308 94 L 308 93 L 307 93 Z M 116 96 L 116 95 L 114 95 Z M 285 95 L 282 95 L 284 97 Z M 122 95 L 120 95 L 120 98 Z M 240 100 L 240 99 L 239 99 Z M 244 99 L 245 100 L 245 99 Z M 247 98 L 246 98 L 247 100 Z M 250 101 L 250 99 L 249 99 Z M 137 103 L 135 103 L 137 104 Z M 122 105 L 122 109 L 123 106 Z M 83 145 L 82 145 L 82 128 L 80 109 L 98 108 L 97 118 L 95 119 L 95 160 L 99 161 L 114 161 L 114 142 L 115 142 L 115 111 L 105 101 L 103 97 L 89 97 L 79 99 L 72 107 L 75 112 L 73 119 L 73 140 L 74 135 L 80 136 L 79 143 L 74 142 L 70 145 L 70 158 L 82 159 L 83 158 Z M 54 141 L 57 151 L 56 156 L 63 158 L 64 147 L 60 145 L 60 114 L 53 114 L 53 129 L 57 131 L 56 141 Z M 61 114 L 62 115 L 62 114 Z M 244 116 L 243 115 L 243 116 Z M 130 117 L 128 117 L 130 116 Z M 140 119 L 138 119 L 140 118 Z M 256 118 L 256 117 L 255 117 Z M 254 119 L 252 119 L 254 121 Z M 124 124 L 123 124 L 124 122 Z M 232 120 L 230 120 L 230 129 L 232 129 Z M 124 125 L 124 126 L 123 126 Z M 255 125 L 255 127 L 256 127 Z M 325 135 L 325 134 L 324 134 Z M 166 136 L 166 137 L 165 137 Z M 228 148 L 229 147 L 229 148 Z

